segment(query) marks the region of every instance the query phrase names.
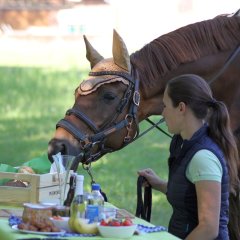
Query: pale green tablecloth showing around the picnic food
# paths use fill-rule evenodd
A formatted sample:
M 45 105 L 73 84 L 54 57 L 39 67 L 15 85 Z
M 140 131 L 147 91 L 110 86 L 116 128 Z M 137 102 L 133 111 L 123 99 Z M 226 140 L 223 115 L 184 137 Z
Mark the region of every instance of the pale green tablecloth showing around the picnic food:
M 10 215 L 16 215 L 16 216 L 21 216 L 23 211 L 23 207 L 15 207 L 15 206 L 7 206 L 7 205 L 0 205 L 0 226 L 5 229 L 9 234 L 14 236 L 14 239 L 46 239 L 46 238 L 52 238 L 53 236 L 46 236 L 46 235 L 41 235 L 41 234 L 29 234 L 29 233 L 22 233 L 19 231 L 16 231 L 11 228 L 11 226 L 8 223 L 8 218 Z M 144 226 L 149 226 L 149 227 L 154 227 L 153 224 L 135 217 L 133 219 L 133 222 L 135 224 L 141 224 Z M 0 236 L 1 237 L 1 236 Z M 58 236 L 57 238 L 53 239 L 71 239 L 71 240 L 102 240 L 106 239 L 101 236 L 91 236 L 91 237 L 63 237 L 63 236 Z M 111 238 L 107 238 L 111 239 Z M 113 239 L 113 238 L 112 238 Z M 159 232 L 151 232 L 151 233 L 142 233 L 140 235 L 133 235 L 131 240 L 177 240 L 179 238 L 173 236 L 172 234 L 168 233 L 167 231 L 159 231 Z M 116 240 L 116 239 L 115 239 Z

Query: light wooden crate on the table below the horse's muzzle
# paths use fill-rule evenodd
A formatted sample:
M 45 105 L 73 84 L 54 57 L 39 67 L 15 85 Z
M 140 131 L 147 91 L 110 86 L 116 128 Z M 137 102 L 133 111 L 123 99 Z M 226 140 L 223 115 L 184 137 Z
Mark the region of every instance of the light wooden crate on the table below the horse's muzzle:
M 22 205 L 22 203 L 39 202 L 59 202 L 60 188 L 63 189 L 63 183 L 66 174 L 46 173 L 46 174 L 24 174 L 0 172 L 0 179 L 21 180 L 28 182 L 27 187 L 0 186 L 0 203 Z M 70 174 L 69 174 L 70 176 Z M 60 179 L 60 181 L 59 181 Z M 65 193 L 69 189 L 69 178 Z M 65 194 L 65 196 L 66 196 Z

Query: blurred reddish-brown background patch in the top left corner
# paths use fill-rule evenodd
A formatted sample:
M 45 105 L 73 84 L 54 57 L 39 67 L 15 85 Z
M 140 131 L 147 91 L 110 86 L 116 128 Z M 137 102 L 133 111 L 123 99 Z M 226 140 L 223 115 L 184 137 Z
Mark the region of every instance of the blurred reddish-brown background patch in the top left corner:
M 56 24 L 56 13 L 60 9 L 77 5 L 105 4 L 104 0 L 0 0 L 0 25 L 14 30 L 29 26 L 51 26 Z

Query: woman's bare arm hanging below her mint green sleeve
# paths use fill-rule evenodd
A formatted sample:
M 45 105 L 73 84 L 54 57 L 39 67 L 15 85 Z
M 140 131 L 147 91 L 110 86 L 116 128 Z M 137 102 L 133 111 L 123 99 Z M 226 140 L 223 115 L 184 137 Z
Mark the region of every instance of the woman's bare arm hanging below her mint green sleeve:
M 202 180 L 195 183 L 198 204 L 197 227 L 186 240 L 212 240 L 218 236 L 221 206 L 221 183 Z

